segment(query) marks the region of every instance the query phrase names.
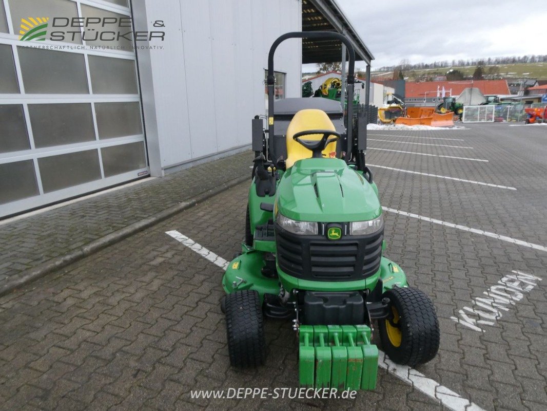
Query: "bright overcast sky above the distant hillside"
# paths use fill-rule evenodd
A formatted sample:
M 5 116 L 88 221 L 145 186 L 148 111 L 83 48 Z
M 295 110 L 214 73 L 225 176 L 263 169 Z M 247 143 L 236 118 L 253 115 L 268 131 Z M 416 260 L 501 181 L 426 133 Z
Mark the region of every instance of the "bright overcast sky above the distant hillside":
M 373 70 L 403 59 L 418 63 L 547 54 L 547 7 L 542 1 L 337 2 L 373 53 Z

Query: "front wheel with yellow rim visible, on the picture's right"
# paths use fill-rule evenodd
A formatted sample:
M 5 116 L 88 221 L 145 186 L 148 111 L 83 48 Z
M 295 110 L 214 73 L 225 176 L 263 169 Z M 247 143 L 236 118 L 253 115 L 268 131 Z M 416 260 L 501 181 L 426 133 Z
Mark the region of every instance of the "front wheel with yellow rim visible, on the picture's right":
M 378 328 L 383 350 L 397 364 L 415 366 L 435 357 L 440 329 L 431 299 L 414 288 L 395 287 L 386 291 L 390 316 Z

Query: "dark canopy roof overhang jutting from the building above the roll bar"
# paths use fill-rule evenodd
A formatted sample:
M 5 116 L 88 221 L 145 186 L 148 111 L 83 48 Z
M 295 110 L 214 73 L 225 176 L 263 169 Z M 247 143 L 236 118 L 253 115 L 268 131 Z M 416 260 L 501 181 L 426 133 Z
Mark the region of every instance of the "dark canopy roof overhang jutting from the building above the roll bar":
M 335 31 L 350 39 L 355 59 L 370 66 L 374 59 L 335 0 L 302 0 L 302 31 Z M 302 63 L 340 61 L 342 44 L 335 40 L 302 39 Z

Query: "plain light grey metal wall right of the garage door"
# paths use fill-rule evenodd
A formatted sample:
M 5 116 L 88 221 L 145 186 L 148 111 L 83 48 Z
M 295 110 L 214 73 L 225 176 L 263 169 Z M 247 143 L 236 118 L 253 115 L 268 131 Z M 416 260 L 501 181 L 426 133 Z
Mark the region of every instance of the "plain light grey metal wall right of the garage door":
M 133 10 L 137 30 L 166 32 L 162 49 L 138 50 L 152 175 L 251 144 L 267 52 L 300 31 L 300 0 L 133 0 Z M 299 40 L 277 49 L 275 67 L 287 73 L 286 96 L 300 96 Z

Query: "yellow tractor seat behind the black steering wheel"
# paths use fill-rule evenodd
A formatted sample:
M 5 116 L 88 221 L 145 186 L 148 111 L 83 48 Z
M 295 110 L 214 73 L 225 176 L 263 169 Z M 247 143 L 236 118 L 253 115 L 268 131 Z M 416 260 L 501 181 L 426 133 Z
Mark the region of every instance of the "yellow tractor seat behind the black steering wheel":
M 296 112 L 293 119 L 287 128 L 287 168 L 293 167 L 293 164 L 302 158 L 311 158 L 311 150 L 306 149 L 298 141 L 293 140 L 296 133 L 306 130 L 332 130 L 336 132 L 333 122 L 323 110 L 305 109 Z M 323 134 L 310 134 L 301 139 L 304 140 L 321 140 Z M 325 157 L 336 157 L 336 141 L 333 141 L 323 150 Z

